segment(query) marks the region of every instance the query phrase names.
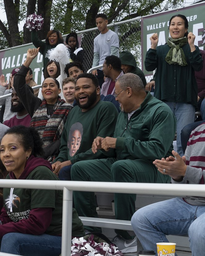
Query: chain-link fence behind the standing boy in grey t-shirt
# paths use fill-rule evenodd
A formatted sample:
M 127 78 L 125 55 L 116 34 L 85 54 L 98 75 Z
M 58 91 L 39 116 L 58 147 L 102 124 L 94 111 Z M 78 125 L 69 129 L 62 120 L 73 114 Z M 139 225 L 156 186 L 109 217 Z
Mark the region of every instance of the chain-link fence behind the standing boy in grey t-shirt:
M 119 37 L 119 51 L 130 51 L 135 56 L 137 66 L 142 69 L 141 18 L 109 24 L 108 27 Z M 99 35 L 99 33 L 100 31 L 97 28 L 77 32 L 78 35 L 81 34 L 81 47 L 84 49 L 83 66 L 85 72 L 92 67 L 94 38 Z M 149 82 L 152 76 L 146 76 L 146 79 L 147 82 Z

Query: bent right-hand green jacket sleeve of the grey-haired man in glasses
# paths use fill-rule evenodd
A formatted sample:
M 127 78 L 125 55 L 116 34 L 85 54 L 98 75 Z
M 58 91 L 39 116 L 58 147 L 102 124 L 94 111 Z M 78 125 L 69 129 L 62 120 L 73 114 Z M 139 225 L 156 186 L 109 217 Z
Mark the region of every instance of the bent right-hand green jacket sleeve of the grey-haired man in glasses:
M 176 118 L 172 112 L 161 109 L 150 122 L 151 130 L 148 141 L 135 140 L 132 137 L 117 137 L 116 149 L 124 150 L 131 156 L 140 159 L 161 159 L 165 157 L 173 143 L 176 132 Z M 167 134 L 170 136 L 167 136 Z

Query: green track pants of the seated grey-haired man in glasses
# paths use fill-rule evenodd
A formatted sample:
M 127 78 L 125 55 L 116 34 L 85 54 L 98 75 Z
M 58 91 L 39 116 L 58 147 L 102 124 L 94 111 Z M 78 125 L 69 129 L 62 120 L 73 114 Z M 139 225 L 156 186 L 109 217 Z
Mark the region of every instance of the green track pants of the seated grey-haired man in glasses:
M 71 179 L 79 181 L 107 181 L 107 182 L 145 182 L 169 183 L 169 176 L 162 175 L 156 167 L 145 159 L 118 160 L 116 158 L 80 161 L 71 168 Z M 93 192 L 73 192 L 75 209 L 79 216 L 97 218 L 95 194 Z M 116 219 L 131 220 L 135 213 L 136 194 L 115 193 Z M 97 227 L 85 227 L 91 232 L 99 232 Z M 115 230 L 125 239 L 130 235 L 124 230 Z

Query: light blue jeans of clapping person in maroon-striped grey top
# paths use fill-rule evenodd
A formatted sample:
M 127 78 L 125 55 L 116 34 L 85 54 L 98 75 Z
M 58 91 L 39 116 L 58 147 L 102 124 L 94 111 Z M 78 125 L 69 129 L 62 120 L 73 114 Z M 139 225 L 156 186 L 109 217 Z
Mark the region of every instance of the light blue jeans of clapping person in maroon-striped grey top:
M 166 235 L 188 234 L 192 256 L 204 255 L 205 206 L 193 206 L 177 197 L 137 210 L 131 224 L 145 250 L 156 252 L 156 243 L 169 242 Z

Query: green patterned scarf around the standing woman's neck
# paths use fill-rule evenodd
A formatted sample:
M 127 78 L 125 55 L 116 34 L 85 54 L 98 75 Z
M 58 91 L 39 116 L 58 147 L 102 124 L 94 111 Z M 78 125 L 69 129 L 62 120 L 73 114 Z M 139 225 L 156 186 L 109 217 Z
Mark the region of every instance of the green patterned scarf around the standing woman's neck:
M 178 64 L 180 66 L 187 66 L 186 58 L 184 55 L 184 51 L 182 50 L 182 46 L 184 46 L 188 42 L 187 37 L 182 37 L 178 39 L 173 39 L 168 37 L 168 46 L 170 50 L 165 57 L 165 60 L 169 64 Z

